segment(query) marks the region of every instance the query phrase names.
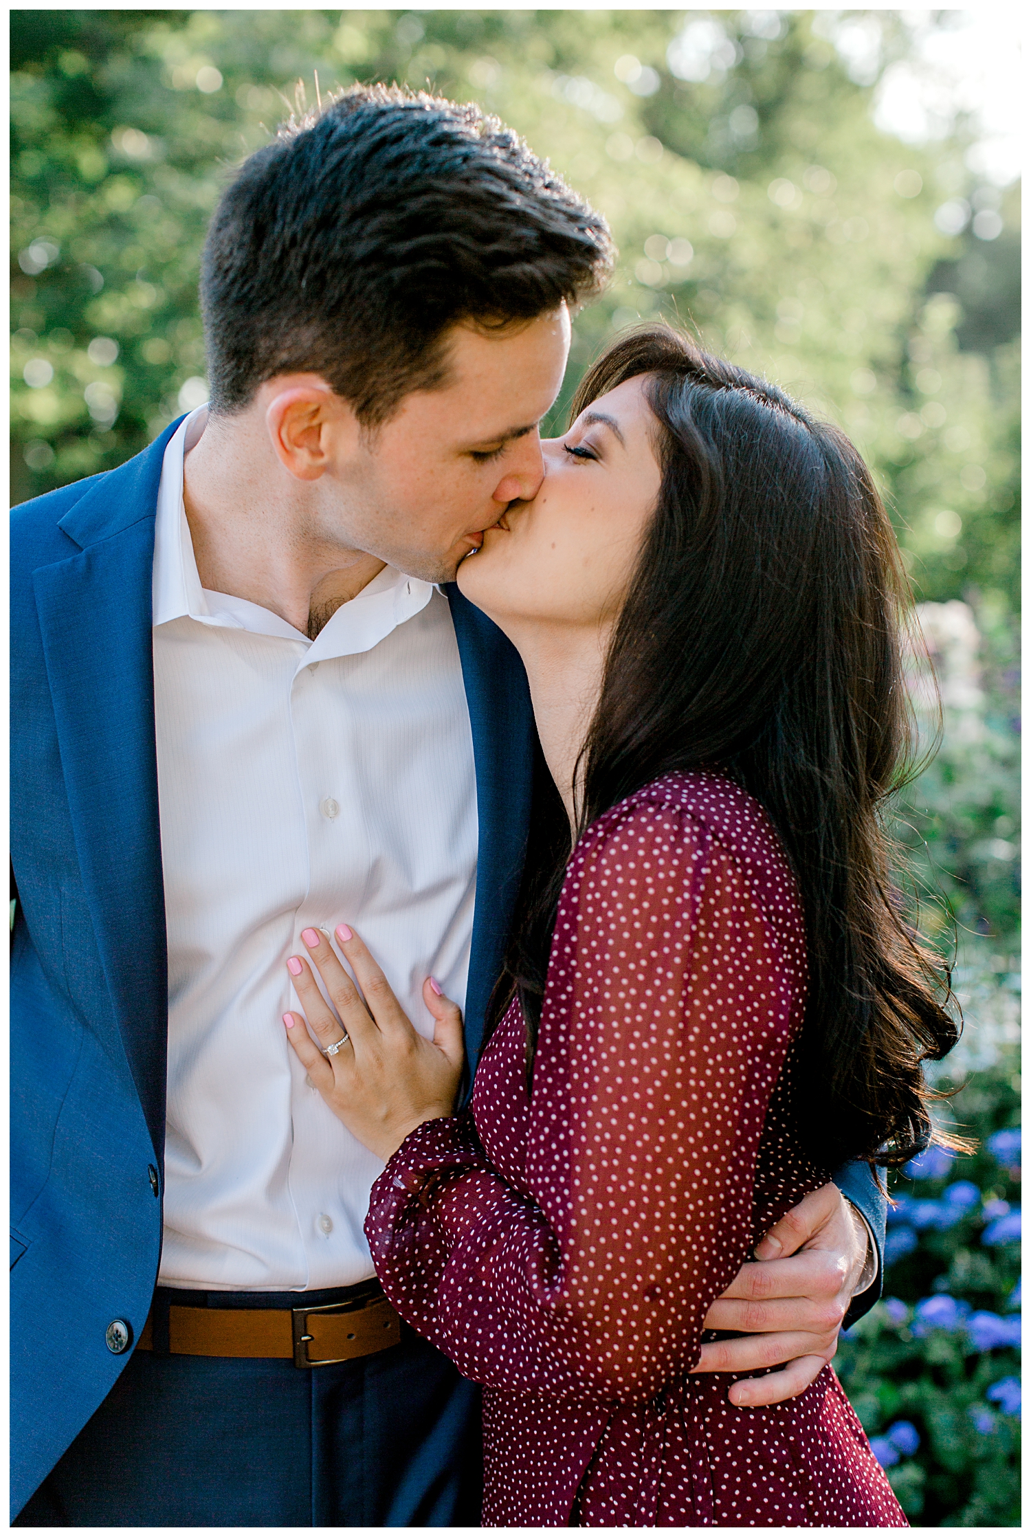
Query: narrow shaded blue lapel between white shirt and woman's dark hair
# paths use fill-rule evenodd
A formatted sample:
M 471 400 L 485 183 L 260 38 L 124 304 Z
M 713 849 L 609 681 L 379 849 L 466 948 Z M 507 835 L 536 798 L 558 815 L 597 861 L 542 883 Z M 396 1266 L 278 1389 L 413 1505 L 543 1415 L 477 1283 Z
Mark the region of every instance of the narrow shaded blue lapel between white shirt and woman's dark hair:
M 484 1016 L 504 962 L 533 793 L 533 707 L 519 655 L 479 609 L 447 587 L 476 761 L 479 859 L 466 990 L 466 1050 L 476 1068 Z

